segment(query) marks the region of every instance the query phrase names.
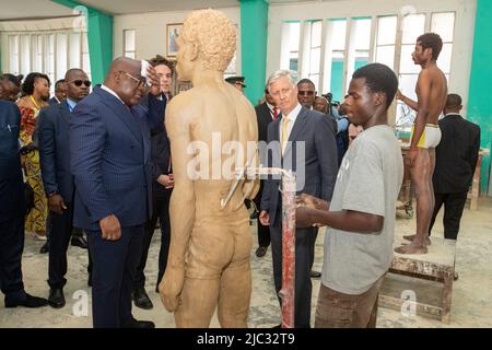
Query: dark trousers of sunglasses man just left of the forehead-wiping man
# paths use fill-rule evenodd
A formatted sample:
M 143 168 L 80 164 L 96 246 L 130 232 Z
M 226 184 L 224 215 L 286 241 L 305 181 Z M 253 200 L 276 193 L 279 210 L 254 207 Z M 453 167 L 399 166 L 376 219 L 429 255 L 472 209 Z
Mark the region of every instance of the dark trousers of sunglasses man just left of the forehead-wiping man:
M 62 214 L 49 212 L 49 267 L 48 284 L 50 288 L 63 288 L 67 283 L 67 250 L 73 232 L 82 230 L 73 228 L 73 202 L 66 203 L 67 209 Z M 92 272 L 91 252 L 87 252 L 87 272 Z

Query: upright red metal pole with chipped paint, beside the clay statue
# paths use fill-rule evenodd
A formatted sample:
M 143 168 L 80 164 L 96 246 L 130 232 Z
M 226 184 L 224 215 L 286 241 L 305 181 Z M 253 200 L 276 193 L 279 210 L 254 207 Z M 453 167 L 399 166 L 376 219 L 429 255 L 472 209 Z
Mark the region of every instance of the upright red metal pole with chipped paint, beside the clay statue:
M 282 328 L 294 328 L 295 177 L 282 174 Z

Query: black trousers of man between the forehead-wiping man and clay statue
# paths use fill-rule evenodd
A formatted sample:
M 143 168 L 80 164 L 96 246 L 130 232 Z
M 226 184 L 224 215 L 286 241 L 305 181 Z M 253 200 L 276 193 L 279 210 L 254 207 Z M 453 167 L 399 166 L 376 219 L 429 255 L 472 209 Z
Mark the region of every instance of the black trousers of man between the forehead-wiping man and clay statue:
M 155 185 L 154 185 L 155 186 Z M 161 185 L 159 185 L 161 186 Z M 161 186 L 162 187 L 162 186 Z M 159 272 L 157 272 L 157 284 L 164 276 L 167 266 L 167 255 L 169 253 L 171 244 L 171 221 L 169 221 L 169 200 L 171 200 L 171 189 L 165 188 L 153 188 L 152 200 L 153 200 L 153 213 L 152 218 L 145 223 L 144 234 L 143 234 L 143 246 L 142 256 L 140 264 L 137 267 L 137 275 L 133 282 L 133 288 L 144 288 L 145 287 L 145 265 L 147 258 L 149 256 L 149 248 L 154 235 L 155 225 L 157 219 L 161 225 L 161 248 L 159 250 Z

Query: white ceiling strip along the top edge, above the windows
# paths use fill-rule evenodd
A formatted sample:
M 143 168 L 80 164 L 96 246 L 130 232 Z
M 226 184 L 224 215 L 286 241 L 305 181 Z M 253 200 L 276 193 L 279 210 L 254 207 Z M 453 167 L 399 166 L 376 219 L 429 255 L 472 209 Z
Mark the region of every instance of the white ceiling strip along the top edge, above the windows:
M 238 7 L 239 0 L 79 0 L 109 14 L 189 11 Z M 321 2 L 333 0 L 270 0 L 270 3 Z M 0 0 L 0 21 L 72 15 L 72 11 L 50 0 Z

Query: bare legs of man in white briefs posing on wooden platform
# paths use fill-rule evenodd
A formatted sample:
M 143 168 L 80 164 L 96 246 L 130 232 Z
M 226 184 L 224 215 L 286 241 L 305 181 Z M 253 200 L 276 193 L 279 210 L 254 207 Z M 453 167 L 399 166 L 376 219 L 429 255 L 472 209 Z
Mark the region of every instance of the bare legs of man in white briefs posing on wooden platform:
M 427 149 L 419 149 L 415 163 L 410 167 L 410 175 L 415 189 L 417 198 L 417 232 L 413 241 L 395 248 L 400 254 L 426 254 L 429 238 L 429 225 L 432 210 L 434 209 L 434 191 L 432 189 L 433 166 Z

